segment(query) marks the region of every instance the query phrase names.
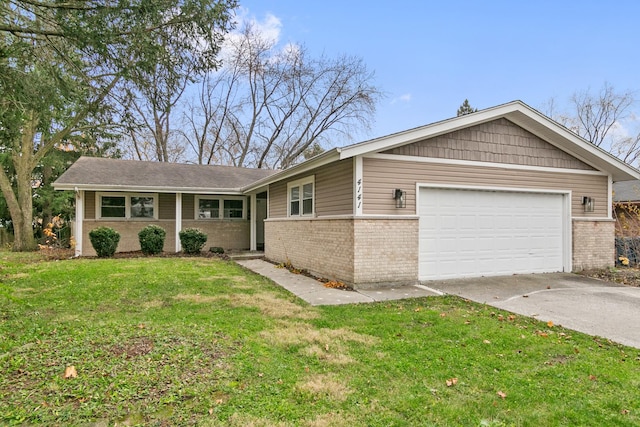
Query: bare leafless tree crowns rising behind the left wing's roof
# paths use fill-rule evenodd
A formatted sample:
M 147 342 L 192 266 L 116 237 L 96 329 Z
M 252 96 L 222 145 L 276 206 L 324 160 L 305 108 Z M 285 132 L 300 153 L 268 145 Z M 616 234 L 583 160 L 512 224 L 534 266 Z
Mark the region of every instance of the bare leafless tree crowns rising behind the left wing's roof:
M 381 93 L 361 59 L 278 50 L 251 25 L 228 49 L 185 115 L 199 163 L 284 168 L 314 144 L 369 126 Z

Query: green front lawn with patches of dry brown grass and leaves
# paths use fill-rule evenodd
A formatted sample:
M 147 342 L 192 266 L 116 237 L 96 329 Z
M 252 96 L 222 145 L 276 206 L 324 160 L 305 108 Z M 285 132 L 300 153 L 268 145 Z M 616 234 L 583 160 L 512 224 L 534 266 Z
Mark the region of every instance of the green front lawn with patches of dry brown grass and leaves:
M 3 425 L 631 426 L 639 354 L 456 297 L 310 307 L 216 259 L 0 252 Z

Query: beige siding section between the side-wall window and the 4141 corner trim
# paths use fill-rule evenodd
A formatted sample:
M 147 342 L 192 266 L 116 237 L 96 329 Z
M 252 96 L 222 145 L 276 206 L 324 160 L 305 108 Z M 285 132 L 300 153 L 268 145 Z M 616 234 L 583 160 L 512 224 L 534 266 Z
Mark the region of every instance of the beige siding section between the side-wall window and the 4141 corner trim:
M 353 160 L 331 163 L 315 172 L 316 216 L 353 213 Z

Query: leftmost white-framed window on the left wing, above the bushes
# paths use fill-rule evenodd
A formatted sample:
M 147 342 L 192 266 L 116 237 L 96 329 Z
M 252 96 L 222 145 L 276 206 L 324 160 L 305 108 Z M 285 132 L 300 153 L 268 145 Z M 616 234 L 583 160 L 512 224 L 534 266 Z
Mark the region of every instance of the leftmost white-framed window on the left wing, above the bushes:
M 158 219 L 157 194 L 97 193 L 98 219 Z

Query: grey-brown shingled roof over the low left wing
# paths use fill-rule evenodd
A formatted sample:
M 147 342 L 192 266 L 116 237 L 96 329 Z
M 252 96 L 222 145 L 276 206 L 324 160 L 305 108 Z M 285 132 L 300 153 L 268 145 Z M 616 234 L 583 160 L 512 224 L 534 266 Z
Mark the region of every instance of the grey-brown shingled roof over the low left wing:
M 240 193 L 275 170 L 80 157 L 54 183 L 56 190 Z

